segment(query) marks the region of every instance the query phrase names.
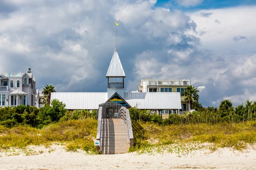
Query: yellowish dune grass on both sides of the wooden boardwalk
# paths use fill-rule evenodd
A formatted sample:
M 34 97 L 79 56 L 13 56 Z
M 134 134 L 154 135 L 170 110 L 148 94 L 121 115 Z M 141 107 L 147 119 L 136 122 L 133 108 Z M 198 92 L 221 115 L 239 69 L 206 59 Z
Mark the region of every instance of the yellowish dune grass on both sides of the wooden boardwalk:
M 133 122 L 134 147 L 130 152 L 150 153 L 167 151 L 180 153 L 200 148 L 215 150 L 232 147 L 242 150 L 256 142 L 256 121 L 241 123 L 158 125 L 152 122 Z M 24 148 L 29 145 L 49 146 L 62 143 L 67 150 L 82 149 L 96 154 L 93 140 L 97 133 L 95 119 L 79 119 L 58 122 L 42 129 L 29 126 L 6 128 L 0 126 L 0 150 L 10 147 Z

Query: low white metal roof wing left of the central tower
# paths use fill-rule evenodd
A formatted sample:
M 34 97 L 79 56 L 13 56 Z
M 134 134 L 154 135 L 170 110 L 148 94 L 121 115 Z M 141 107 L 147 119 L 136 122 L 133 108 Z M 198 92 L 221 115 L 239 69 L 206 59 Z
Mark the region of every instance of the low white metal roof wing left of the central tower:
M 108 100 L 108 93 L 51 93 L 52 99 L 66 104 L 67 109 L 98 109 Z

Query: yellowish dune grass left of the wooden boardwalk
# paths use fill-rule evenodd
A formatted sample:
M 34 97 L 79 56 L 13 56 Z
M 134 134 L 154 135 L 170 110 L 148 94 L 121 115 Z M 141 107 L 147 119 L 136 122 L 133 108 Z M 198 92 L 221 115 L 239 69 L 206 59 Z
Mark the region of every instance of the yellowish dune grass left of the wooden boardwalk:
M 66 144 L 67 150 L 83 149 L 95 153 L 93 137 L 96 137 L 96 133 L 95 119 L 58 122 L 42 129 L 28 126 L 13 128 L 0 126 L 0 149 L 40 144 L 48 146 L 52 142 L 62 142 Z

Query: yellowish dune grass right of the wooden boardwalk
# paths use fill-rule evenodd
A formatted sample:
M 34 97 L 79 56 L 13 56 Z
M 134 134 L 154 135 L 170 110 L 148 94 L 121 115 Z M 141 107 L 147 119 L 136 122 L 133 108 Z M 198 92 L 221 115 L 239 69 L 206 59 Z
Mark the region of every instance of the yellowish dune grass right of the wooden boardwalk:
M 189 124 L 160 126 L 154 123 L 133 122 L 134 147 L 130 151 L 151 152 L 166 147 L 183 147 L 192 144 L 194 149 L 209 143 L 208 149 L 232 147 L 247 148 L 256 142 L 256 121 L 219 123 L 215 125 Z M 157 149 L 158 148 L 158 149 Z M 191 149 L 191 148 L 190 148 Z M 186 149 L 185 149 L 186 150 Z

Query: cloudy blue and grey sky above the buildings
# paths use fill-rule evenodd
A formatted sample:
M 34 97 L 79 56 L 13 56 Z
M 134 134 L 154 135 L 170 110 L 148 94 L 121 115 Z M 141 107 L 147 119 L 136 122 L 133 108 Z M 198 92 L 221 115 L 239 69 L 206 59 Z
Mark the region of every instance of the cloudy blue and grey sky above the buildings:
M 125 91 L 140 79 L 190 79 L 199 102 L 256 101 L 255 0 L 0 0 L 0 72 L 36 88 L 106 92 L 115 49 Z

